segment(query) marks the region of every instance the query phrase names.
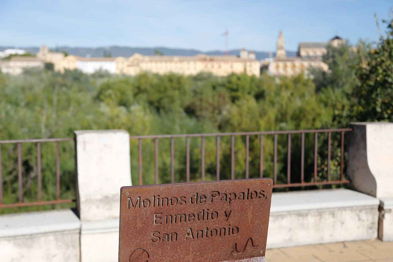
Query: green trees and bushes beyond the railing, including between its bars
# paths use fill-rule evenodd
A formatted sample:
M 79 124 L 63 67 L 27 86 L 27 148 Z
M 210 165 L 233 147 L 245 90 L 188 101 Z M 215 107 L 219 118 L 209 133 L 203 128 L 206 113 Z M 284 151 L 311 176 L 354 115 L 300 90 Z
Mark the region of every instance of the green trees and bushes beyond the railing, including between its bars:
M 246 132 L 347 127 L 351 121 L 393 121 L 393 34 L 377 44 L 329 46 L 328 72 L 312 77 L 208 73 L 195 76 L 99 71 L 26 70 L 0 73 L 0 140 L 73 137 L 74 130 L 124 129 L 131 135 Z M 278 136 L 277 174 L 286 183 L 286 136 Z M 292 181 L 300 180 L 300 136 L 292 136 Z M 313 134 L 305 135 L 305 181 L 313 180 Z M 318 137 L 318 180 L 327 165 L 340 174 L 340 134 Z M 42 143 L 43 200 L 55 199 L 55 145 Z M 206 179 L 215 178 L 215 138 L 206 137 Z M 138 184 L 138 141 L 131 140 L 132 181 Z M 170 181 L 170 141 L 159 141 L 159 183 Z M 200 179 L 200 138 L 190 139 L 191 180 Z M 230 177 L 230 137 L 221 138 L 221 178 Z M 1 146 L 4 203 L 18 201 L 17 145 Z M 264 176 L 273 174 L 273 136 L 264 137 Z M 185 181 L 185 139 L 175 139 L 175 180 Z M 74 198 L 73 143 L 60 143 L 62 198 Z M 24 198 L 37 200 L 37 150 L 22 144 Z M 245 141 L 235 143 L 235 177 L 243 178 Z M 154 183 L 154 141 L 143 141 L 143 182 Z M 259 140 L 250 136 L 250 177 L 259 176 Z

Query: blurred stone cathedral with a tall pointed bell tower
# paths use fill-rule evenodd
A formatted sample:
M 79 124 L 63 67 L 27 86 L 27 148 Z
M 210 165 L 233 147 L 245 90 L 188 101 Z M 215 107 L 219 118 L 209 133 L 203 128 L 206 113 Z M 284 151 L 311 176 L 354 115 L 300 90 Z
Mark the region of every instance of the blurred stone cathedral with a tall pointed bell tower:
M 286 57 L 283 32 L 280 31 L 275 59 L 266 62 L 263 68 L 274 76 L 291 76 L 302 72 L 307 74 L 310 67 L 327 71 L 329 66 L 322 61 L 323 55 L 327 53 L 327 45 L 331 44 L 337 47 L 343 43 L 345 41 L 338 36 L 332 38 L 329 42 L 300 42 L 298 55 L 296 57 Z

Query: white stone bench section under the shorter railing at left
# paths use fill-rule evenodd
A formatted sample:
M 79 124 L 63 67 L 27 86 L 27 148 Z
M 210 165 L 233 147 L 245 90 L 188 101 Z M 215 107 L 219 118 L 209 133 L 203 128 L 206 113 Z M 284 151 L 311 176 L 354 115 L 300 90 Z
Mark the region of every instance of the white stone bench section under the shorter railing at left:
M 79 228 L 71 210 L 0 216 L 0 261 L 79 262 Z

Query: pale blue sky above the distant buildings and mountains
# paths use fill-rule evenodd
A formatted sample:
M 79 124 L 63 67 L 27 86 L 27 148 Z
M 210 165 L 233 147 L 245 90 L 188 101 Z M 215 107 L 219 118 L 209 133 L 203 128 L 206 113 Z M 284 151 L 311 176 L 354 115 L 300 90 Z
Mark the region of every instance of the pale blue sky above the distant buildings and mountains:
M 274 51 L 334 35 L 375 41 L 374 13 L 392 0 L 0 0 L 0 46 L 157 47 Z

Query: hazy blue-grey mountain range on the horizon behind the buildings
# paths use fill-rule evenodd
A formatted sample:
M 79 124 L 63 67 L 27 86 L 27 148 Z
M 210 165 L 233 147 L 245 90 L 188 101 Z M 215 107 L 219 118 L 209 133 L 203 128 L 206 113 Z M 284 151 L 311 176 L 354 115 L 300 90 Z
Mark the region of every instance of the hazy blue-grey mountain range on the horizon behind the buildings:
M 7 48 L 15 48 L 13 46 L 0 46 L 0 51 L 4 51 Z M 20 48 L 24 49 L 29 53 L 37 53 L 39 51 L 39 47 L 25 47 Z M 166 47 L 154 47 L 154 48 L 140 48 L 140 47 L 127 47 L 127 46 L 110 46 L 110 47 L 98 47 L 98 48 L 84 48 L 84 47 L 68 47 L 68 46 L 59 46 L 56 48 L 58 51 L 66 51 L 70 55 L 77 55 L 80 57 L 86 57 L 90 55 L 90 57 L 103 57 L 104 51 L 106 53 L 110 53 L 112 57 L 130 57 L 134 53 L 140 53 L 141 55 L 154 55 L 155 51 L 158 50 L 163 55 L 184 55 L 184 56 L 192 56 L 198 55 L 200 53 L 206 55 L 224 55 L 224 51 L 208 51 L 202 52 L 196 49 L 181 49 L 181 48 L 166 48 Z M 250 50 L 251 51 L 251 50 Z M 230 55 L 239 55 L 240 49 L 230 50 L 228 53 Z M 255 56 L 258 60 L 265 59 L 269 57 L 269 52 L 264 51 L 254 51 Z M 295 57 L 296 51 L 286 51 L 287 57 Z M 275 53 L 270 54 L 274 57 Z

